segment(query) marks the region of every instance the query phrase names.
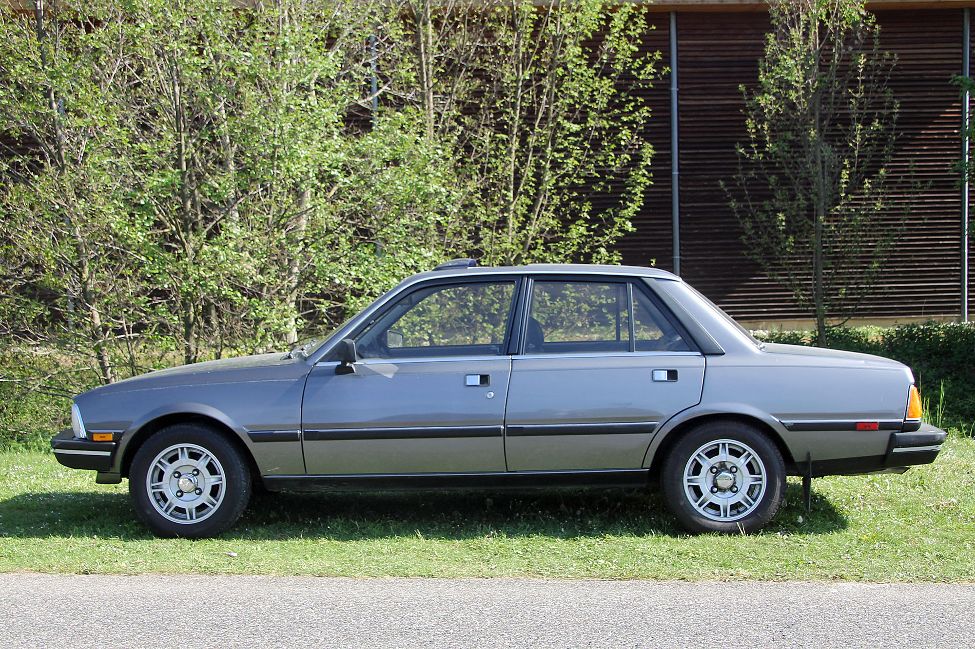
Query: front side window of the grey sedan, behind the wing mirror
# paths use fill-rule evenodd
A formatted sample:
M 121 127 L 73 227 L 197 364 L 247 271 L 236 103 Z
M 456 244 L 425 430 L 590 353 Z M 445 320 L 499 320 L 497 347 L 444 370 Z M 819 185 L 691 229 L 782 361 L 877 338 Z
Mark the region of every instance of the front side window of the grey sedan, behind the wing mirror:
M 356 337 L 363 358 L 504 352 L 513 282 L 428 286 L 397 301 Z

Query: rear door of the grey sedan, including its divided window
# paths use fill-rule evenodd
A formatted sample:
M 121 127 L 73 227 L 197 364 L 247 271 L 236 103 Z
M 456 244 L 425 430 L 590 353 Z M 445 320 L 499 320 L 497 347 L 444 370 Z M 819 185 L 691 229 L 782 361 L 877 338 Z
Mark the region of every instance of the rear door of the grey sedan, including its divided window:
M 698 403 L 704 357 L 625 278 L 527 283 L 505 427 L 510 471 L 636 469 L 659 422 Z

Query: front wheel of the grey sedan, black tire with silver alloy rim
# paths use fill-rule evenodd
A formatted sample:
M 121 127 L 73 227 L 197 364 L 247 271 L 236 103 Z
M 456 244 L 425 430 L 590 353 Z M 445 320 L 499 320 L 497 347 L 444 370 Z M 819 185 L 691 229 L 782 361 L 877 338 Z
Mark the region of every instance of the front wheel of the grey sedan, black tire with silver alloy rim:
M 251 472 L 221 433 L 176 424 L 147 439 L 129 472 L 129 494 L 155 534 L 203 539 L 237 522 L 251 498 Z

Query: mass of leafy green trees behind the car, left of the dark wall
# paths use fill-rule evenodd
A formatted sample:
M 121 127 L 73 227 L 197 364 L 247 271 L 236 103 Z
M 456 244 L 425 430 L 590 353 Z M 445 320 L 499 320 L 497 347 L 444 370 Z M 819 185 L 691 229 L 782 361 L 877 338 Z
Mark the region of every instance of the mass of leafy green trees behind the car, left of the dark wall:
M 109 383 L 293 344 L 453 256 L 611 261 L 649 181 L 645 27 L 597 0 L 8 8 L 3 345 Z

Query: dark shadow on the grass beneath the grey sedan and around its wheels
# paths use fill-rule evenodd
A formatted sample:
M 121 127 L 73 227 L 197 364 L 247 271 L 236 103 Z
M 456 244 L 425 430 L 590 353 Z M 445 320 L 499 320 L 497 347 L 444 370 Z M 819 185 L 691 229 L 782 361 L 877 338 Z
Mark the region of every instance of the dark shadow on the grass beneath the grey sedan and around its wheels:
M 847 520 L 813 491 L 812 512 L 790 483 L 779 514 L 761 534 L 827 534 Z M 0 501 L 0 534 L 20 538 L 153 538 L 124 493 L 24 493 Z M 670 536 L 686 532 L 652 489 L 254 493 L 223 539 L 339 542 L 391 538 L 474 540 Z

